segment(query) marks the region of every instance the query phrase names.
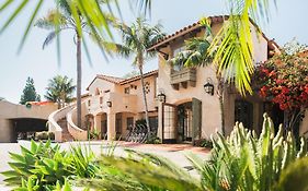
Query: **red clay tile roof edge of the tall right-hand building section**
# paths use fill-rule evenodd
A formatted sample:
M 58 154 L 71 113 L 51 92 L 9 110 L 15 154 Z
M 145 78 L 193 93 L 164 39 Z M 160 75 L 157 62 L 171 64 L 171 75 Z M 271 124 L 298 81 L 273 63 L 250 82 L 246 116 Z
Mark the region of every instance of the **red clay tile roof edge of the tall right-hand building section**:
M 217 16 L 208 16 L 208 19 L 210 20 L 212 24 L 215 23 L 223 23 L 224 21 L 229 19 L 229 15 L 217 15 Z M 251 19 L 250 22 L 255 26 L 259 27 Z M 155 49 L 159 49 L 163 46 L 166 46 L 168 43 L 170 43 L 173 39 L 176 39 L 181 36 L 184 36 L 189 33 L 195 32 L 201 29 L 203 26 L 201 25 L 199 21 L 195 22 L 189 26 L 185 26 L 179 31 L 176 31 L 175 33 L 171 34 L 171 35 L 167 35 L 166 37 L 159 39 L 156 44 L 153 44 L 150 48 L 148 48 L 148 51 L 155 50 Z M 269 48 L 271 50 L 274 50 L 275 47 L 278 48 L 280 46 L 272 39 L 270 40 L 264 33 L 262 33 L 262 36 L 267 40 L 269 43 Z

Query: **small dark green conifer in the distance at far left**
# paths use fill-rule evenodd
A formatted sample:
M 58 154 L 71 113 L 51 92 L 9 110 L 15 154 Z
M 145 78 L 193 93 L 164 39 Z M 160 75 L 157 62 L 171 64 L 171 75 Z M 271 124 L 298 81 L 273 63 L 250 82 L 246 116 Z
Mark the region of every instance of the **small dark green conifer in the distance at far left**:
M 41 102 L 41 96 L 36 94 L 34 80 L 32 77 L 27 77 L 26 80 L 20 104 L 25 105 L 27 102 Z

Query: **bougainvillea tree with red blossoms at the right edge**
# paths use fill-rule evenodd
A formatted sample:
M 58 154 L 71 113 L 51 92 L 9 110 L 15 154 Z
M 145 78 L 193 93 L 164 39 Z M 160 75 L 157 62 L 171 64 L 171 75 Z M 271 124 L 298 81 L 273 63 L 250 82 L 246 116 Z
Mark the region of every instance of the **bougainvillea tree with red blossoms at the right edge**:
M 260 96 L 287 114 L 286 130 L 297 132 L 308 107 L 308 52 L 305 46 L 287 44 L 280 55 L 256 69 Z

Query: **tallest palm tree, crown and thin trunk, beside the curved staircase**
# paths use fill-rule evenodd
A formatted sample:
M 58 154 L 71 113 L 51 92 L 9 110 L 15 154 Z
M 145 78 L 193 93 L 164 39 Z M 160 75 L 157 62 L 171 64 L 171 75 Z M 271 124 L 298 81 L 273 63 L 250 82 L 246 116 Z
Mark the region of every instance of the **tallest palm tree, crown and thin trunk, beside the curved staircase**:
M 70 29 L 75 33 L 75 44 L 77 48 L 77 126 L 81 128 L 81 43 L 84 40 L 82 33 L 89 34 L 92 39 L 99 38 L 99 33 L 93 27 L 91 21 L 87 20 L 79 10 L 79 7 L 71 3 L 69 0 L 57 0 L 58 9 L 50 10 L 45 17 L 38 19 L 35 26 L 52 31 L 46 37 L 43 49 L 48 46 L 60 32 Z M 114 19 L 109 15 L 106 21 L 111 22 Z M 77 23 L 81 23 L 79 28 Z M 87 47 L 84 47 L 87 50 Z

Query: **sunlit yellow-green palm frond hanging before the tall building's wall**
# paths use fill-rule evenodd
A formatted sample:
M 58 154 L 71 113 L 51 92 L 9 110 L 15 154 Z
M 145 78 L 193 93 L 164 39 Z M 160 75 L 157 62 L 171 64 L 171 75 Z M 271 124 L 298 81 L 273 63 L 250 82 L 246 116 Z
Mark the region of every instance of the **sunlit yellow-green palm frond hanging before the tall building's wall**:
M 250 81 L 254 64 L 249 17 L 231 15 L 209 47 L 209 52 L 214 51 L 214 63 L 218 64 L 218 73 L 226 81 L 235 82 L 242 95 L 246 91 L 252 93 Z

